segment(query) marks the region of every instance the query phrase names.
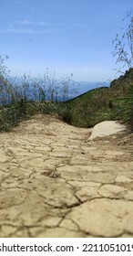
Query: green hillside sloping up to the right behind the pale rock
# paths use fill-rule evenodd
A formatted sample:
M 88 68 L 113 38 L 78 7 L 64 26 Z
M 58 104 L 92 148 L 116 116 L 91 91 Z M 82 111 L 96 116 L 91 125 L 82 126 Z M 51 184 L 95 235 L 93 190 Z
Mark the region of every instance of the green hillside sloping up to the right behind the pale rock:
M 87 91 L 67 101 L 71 110 L 69 123 L 79 127 L 91 127 L 106 120 L 124 123 L 133 120 L 133 69 L 126 71 L 110 87 Z

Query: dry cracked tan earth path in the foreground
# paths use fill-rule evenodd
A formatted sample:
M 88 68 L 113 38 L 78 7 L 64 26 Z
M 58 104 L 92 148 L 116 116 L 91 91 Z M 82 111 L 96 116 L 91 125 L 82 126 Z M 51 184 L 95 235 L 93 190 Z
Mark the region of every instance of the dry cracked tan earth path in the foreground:
M 0 133 L 0 237 L 133 237 L 132 134 L 37 115 Z

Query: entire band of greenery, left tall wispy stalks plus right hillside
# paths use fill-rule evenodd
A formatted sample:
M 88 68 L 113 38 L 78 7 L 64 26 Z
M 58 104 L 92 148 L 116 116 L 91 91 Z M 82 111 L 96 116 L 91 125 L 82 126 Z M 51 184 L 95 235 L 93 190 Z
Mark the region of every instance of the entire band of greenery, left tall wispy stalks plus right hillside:
M 106 120 L 129 123 L 133 130 L 133 69 L 113 80 L 110 87 L 87 91 L 73 100 L 72 75 L 57 82 L 46 69 L 44 78 L 8 80 L 0 58 L 0 131 L 9 131 L 36 113 L 56 114 L 78 127 L 92 127 Z M 66 101 L 65 101 L 66 100 Z

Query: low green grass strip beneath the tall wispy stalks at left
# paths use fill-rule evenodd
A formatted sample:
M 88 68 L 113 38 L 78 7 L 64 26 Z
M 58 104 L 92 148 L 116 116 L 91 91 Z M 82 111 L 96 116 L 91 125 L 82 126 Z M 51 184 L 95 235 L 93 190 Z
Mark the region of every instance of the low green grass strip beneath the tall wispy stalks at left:
M 0 132 L 9 132 L 18 123 L 29 120 L 32 116 L 42 114 L 57 114 L 69 123 L 70 108 L 64 102 L 52 101 L 18 101 L 14 104 L 0 107 Z

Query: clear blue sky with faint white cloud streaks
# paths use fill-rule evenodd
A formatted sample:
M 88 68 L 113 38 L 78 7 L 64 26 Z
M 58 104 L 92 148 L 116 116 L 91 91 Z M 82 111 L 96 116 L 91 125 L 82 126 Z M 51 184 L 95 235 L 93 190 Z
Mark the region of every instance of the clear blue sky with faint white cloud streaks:
M 12 75 L 114 79 L 112 40 L 132 0 L 0 0 L 0 55 Z

